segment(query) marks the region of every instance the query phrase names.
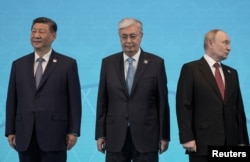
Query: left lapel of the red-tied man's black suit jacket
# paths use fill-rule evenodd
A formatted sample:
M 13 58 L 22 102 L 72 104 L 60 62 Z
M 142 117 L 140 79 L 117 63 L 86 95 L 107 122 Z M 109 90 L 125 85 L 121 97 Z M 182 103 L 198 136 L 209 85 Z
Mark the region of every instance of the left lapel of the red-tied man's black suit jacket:
M 217 83 L 216 83 L 216 80 L 215 80 L 214 75 L 211 71 L 211 68 L 209 67 L 207 61 L 204 58 L 202 58 L 199 61 L 199 68 L 200 68 L 200 71 L 203 74 L 203 76 L 208 81 L 209 85 L 212 87 L 212 89 L 215 91 L 215 93 L 218 95 L 218 97 L 220 97 L 222 99 L 219 88 L 218 88 Z

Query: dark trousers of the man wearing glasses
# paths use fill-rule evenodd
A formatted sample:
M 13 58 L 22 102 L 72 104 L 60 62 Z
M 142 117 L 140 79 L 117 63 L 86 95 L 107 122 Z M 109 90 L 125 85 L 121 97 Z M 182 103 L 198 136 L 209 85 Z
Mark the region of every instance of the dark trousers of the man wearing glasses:
M 125 144 L 121 152 L 107 152 L 106 162 L 158 162 L 158 152 L 140 153 L 136 150 L 130 129 L 128 128 Z

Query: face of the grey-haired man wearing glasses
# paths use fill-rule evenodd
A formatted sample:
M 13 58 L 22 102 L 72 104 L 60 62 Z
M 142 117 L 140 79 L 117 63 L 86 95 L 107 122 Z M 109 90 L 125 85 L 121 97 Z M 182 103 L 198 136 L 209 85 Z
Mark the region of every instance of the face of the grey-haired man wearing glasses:
M 140 27 L 131 25 L 119 31 L 122 50 L 128 56 L 133 56 L 138 52 L 142 40 Z

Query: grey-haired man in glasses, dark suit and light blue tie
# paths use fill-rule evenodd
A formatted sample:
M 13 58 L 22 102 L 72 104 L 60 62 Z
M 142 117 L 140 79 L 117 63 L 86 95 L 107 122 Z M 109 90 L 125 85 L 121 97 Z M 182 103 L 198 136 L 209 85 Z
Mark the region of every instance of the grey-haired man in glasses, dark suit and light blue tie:
M 96 135 L 107 162 L 157 162 L 170 140 L 169 104 L 164 60 L 140 48 L 142 23 L 125 18 L 119 23 L 123 52 L 102 61 Z M 133 60 L 132 87 L 127 59 Z M 127 83 L 129 84 L 129 83 Z

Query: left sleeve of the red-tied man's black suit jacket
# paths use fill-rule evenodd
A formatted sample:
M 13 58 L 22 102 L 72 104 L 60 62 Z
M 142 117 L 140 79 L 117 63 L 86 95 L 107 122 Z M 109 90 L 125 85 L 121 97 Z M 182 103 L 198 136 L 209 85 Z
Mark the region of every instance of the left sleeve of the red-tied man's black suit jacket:
M 194 134 L 192 131 L 193 82 L 194 80 L 192 69 L 187 65 L 183 65 L 176 92 L 176 113 L 181 143 L 194 140 Z

